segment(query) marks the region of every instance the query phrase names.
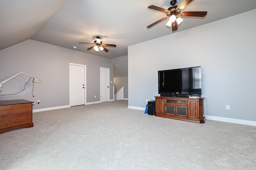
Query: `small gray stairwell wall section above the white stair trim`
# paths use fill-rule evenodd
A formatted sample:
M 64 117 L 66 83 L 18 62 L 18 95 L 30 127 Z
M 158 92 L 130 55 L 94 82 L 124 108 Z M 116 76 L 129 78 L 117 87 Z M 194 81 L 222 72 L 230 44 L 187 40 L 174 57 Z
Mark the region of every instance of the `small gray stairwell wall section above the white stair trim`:
M 124 98 L 128 99 L 128 76 L 114 77 L 115 94 L 124 87 Z

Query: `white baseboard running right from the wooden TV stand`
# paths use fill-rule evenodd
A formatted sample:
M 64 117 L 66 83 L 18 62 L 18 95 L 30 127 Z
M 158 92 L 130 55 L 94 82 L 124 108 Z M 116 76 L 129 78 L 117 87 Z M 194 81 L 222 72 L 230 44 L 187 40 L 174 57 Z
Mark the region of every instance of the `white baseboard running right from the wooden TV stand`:
M 256 121 L 233 119 L 233 118 L 228 118 L 228 117 L 208 116 L 208 115 L 204 115 L 204 116 L 206 118 L 206 121 L 207 121 L 207 119 L 209 119 L 209 120 L 224 121 L 224 122 L 229 122 L 229 123 L 238 123 L 238 124 L 242 124 L 242 125 L 256 126 Z

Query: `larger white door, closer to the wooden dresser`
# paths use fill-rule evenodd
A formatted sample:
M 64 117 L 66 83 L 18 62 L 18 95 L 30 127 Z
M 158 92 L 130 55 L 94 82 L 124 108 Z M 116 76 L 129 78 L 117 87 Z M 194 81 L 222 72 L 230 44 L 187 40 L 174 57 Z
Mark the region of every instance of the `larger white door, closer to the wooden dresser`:
M 86 65 L 70 63 L 70 106 L 85 104 L 86 96 Z

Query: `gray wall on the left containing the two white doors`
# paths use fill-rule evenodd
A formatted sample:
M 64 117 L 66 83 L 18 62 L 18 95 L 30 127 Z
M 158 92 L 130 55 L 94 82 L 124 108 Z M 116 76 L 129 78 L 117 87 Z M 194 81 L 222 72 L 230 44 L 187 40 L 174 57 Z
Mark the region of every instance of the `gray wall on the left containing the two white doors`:
M 69 63 L 86 65 L 86 102 L 100 101 L 100 67 L 110 68 L 110 81 L 114 82 L 114 64 L 110 59 L 34 40 L 0 51 L 0 82 L 19 71 L 34 76 L 42 81 L 34 83 L 34 98 L 30 80 L 23 92 L 1 96 L 1 100 L 25 99 L 35 103 L 40 100 L 41 104 L 35 104 L 33 109 L 69 105 Z M 16 77 L 4 84 L 1 94 L 22 90 L 28 79 L 28 76 Z M 110 100 L 113 99 L 113 86 L 110 83 Z

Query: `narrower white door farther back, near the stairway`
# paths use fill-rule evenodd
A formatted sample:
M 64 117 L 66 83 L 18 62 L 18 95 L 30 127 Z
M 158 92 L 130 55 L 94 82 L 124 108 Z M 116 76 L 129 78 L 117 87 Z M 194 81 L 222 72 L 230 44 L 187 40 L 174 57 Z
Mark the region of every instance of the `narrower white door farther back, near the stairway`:
M 100 102 L 109 101 L 109 68 L 100 67 Z

